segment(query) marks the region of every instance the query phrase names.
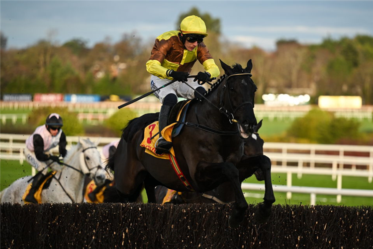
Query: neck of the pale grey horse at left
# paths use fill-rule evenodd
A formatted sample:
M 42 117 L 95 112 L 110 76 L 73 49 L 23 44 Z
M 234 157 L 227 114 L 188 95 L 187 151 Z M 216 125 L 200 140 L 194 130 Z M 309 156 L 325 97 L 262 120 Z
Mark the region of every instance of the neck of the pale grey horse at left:
M 77 170 L 80 170 L 80 160 L 79 160 L 79 152 L 76 152 L 77 156 L 70 157 L 66 164 L 74 167 Z M 57 176 L 59 181 L 68 195 L 73 198 L 74 202 L 82 202 L 83 201 L 83 186 L 84 186 L 84 175 L 79 171 L 72 169 L 68 166 L 64 166 L 61 170 L 60 175 Z

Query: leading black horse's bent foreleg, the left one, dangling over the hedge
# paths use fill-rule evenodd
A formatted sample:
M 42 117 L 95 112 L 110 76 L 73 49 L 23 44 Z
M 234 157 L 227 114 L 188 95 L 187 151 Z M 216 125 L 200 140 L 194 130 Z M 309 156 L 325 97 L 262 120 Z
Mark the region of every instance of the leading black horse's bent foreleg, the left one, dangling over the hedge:
M 199 178 L 197 179 L 196 177 L 196 180 L 199 182 L 206 182 L 214 175 L 220 179 L 221 176 L 223 176 L 231 182 L 235 194 L 235 202 L 233 204 L 232 214 L 229 217 L 229 225 L 233 228 L 238 227 L 243 221 L 248 204 L 242 192 L 241 183 L 239 181 L 239 171 L 236 166 L 231 162 L 199 163 L 198 168 L 202 168 L 202 170 L 196 171 L 196 176 Z

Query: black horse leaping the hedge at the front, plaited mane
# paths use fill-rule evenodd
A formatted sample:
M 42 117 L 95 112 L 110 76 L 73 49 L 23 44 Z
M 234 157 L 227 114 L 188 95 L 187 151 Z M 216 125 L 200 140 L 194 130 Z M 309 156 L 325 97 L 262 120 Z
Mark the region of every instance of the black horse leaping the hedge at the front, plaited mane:
M 173 138 L 175 157 L 180 171 L 184 172 L 183 181 L 170 161 L 153 157 L 140 146 L 149 115 L 132 120 L 123 129 L 117 150 L 107 165 L 114 170 L 116 188 L 123 202 L 134 202 L 143 183 L 148 201 L 155 203 L 157 185 L 177 191 L 192 188 L 196 192 L 206 192 L 230 182 L 235 202 L 229 224 L 237 227 L 242 222 L 248 204 L 236 164 L 243 156 L 243 138 L 251 135 L 257 123 L 254 115 L 257 87 L 251 79 L 251 60 L 246 68 L 239 64 L 229 67 L 220 62 L 225 75 L 214 83 L 203 101 L 190 103 L 186 115 L 189 125 Z

